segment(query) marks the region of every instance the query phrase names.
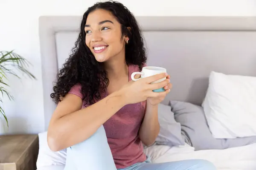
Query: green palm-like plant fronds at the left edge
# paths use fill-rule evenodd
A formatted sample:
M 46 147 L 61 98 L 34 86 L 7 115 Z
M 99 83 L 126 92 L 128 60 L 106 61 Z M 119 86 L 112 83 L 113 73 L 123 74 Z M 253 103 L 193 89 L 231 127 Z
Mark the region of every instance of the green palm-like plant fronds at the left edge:
M 0 97 L 0 118 L 6 121 L 7 127 L 9 127 L 9 124 L 6 113 L 2 107 L 2 99 L 3 96 L 7 96 L 10 100 L 14 99 L 6 89 L 6 87 L 9 87 L 7 82 L 8 74 L 20 79 L 20 76 L 15 72 L 15 70 L 17 70 L 22 74 L 26 74 L 29 78 L 36 79 L 33 74 L 26 70 L 29 65 L 30 63 L 26 59 L 13 51 L 0 51 L 0 94 L 2 95 Z

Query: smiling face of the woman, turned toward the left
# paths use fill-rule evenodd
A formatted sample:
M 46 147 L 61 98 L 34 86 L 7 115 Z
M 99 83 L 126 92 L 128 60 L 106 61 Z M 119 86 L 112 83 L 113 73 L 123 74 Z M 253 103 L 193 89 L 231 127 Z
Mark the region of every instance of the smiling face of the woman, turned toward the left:
M 119 54 L 125 54 L 125 41 L 121 25 L 111 12 L 97 9 L 91 12 L 84 27 L 85 43 L 98 62 L 105 62 Z

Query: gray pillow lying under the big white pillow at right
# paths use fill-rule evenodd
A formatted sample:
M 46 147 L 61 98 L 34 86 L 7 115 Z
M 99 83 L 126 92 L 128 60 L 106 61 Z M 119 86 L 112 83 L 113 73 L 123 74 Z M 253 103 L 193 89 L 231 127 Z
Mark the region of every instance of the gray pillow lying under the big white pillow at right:
M 207 125 L 201 106 L 188 102 L 170 101 L 175 120 L 181 124 L 186 143 L 195 150 L 226 149 L 256 143 L 256 136 L 235 139 L 215 139 Z

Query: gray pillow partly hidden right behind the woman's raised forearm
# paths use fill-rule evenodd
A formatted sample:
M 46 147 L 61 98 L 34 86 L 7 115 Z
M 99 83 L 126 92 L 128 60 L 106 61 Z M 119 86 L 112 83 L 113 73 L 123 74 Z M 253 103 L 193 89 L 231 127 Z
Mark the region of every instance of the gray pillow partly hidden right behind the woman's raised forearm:
M 154 144 L 166 144 L 169 146 L 184 145 L 181 136 L 181 126 L 174 119 L 174 113 L 169 105 L 160 103 L 158 105 L 158 121 L 160 132 Z

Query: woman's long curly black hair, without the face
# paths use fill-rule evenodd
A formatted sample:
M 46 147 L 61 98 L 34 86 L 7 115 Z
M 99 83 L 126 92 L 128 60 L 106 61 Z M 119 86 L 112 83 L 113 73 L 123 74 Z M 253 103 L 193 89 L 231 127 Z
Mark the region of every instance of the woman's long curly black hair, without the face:
M 79 37 L 76 40 L 75 47 L 72 48 L 72 54 L 57 75 L 57 81 L 53 87 L 54 92 L 51 94 L 51 98 L 56 104 L 76 84 L 81 85 L 81 94 L 84 99 L 86 98 L 85 104 L 93 104 L 94 99 L 100 99 L 101 92 L 106 92 L 109 84 L 107 72 L 103 64 L 95 59 L 85 44 L 84 26 L 87 16 L 96 9 L 110 11 L 121 24 L 122 35 L 129 37 L 129 42 L 125 45 L 126 63 L 128 65 L 138 65 L 141 70 L 146 62 L 143 36 L 134 15 L 119 2 L 96 3 L 84 13 Z M 129 30 L 128 27 L 131 29 Z

